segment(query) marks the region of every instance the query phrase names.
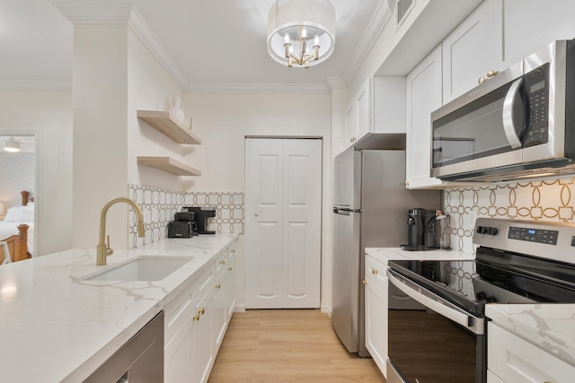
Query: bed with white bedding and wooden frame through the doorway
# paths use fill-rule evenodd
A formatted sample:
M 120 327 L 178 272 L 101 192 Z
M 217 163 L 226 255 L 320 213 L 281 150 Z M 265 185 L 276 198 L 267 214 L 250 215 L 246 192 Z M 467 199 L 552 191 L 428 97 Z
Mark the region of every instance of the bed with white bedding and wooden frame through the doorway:
M 34 202 L 29 201 L 29 192 L 22 191 L 22 205 L 12 206 L 0 221 L 0 265 L 4 263 L 8 248 L 12 262 L 32 257 L 34 251 Z

